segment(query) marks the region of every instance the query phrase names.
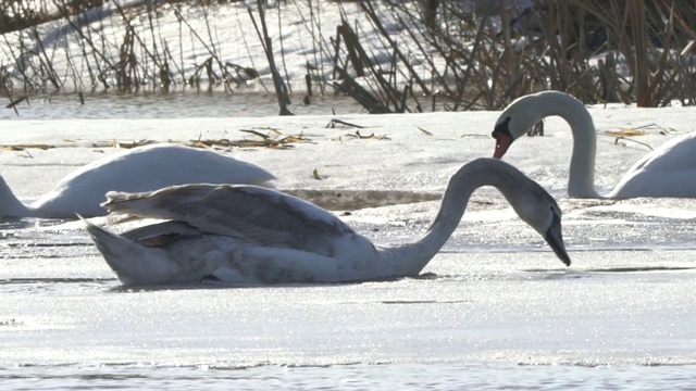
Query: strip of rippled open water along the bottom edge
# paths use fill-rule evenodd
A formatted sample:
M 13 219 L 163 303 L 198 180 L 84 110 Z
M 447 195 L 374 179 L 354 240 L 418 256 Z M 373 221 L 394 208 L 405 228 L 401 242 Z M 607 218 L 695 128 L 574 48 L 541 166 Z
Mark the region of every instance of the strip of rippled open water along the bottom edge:
M 696 366 L 388 364 L 330 366 L 147 365 L 0 369 L 12 390 L 687 390 Z

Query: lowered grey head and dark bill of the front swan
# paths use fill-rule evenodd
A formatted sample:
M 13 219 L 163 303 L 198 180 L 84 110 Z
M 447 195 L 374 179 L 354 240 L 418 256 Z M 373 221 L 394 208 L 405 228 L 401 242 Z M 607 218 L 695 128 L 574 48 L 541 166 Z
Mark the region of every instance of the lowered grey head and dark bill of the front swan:
M 521 186 L 506 195 L 512 209 L 526 224 L 532 226 L 554 250 L 566 266 L 570 266 L 570 256 L 566 251 L 561 229 L 561 210 L 556 200 L 535 181 Z

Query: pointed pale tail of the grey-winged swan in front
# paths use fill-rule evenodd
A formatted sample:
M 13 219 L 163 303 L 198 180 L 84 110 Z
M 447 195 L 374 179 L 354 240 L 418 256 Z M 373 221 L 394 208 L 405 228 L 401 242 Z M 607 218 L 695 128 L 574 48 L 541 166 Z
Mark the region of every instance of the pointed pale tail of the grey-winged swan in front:
M 123 285 L 158 285 L 174 273 L 166 251 L 110 232 L 77 215 L 97 249 Z

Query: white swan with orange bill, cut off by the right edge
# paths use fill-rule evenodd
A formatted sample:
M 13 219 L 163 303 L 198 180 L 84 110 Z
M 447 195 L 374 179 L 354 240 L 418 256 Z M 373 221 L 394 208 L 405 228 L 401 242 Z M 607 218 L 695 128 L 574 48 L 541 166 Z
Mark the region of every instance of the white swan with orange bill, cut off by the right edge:
M 595 190 L 597 135 L 592 116 L 574 97 L 543 91 L 521 97 L 498 117 L 493 137 L 494 157 L 502 157 L 510 144 L 547 116 L 566 119 L 573 133 L 568 195 L 601 198 Z M 696 197 L 696 133 L 675 137 L 631 167 L 609 198 Z

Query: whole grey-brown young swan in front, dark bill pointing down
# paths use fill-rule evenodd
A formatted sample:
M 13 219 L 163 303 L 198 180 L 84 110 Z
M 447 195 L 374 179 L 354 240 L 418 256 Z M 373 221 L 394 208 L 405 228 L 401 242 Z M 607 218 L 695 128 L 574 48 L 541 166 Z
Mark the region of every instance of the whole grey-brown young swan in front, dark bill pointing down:
M 449 181 L 419 241 L 375 247 L 334 214 L 256 186 L 185 185 L 145 193 L 109 192 L 112 213 L 166 219 L 122 234 L 85 220 L 124 285 L 348 282 L 417 276 L 455 231 L 471 193 L 494 186 L 570 265 L 561 212 L 540 186 L 496 159 L 478 159 Z

